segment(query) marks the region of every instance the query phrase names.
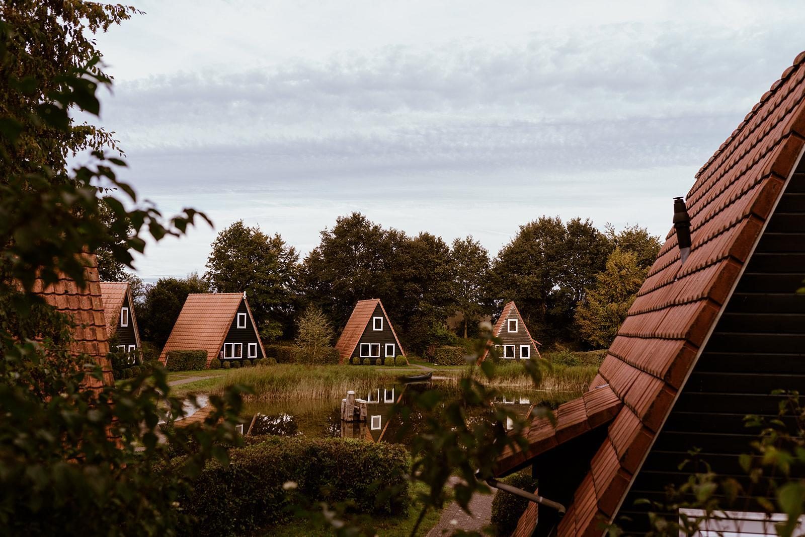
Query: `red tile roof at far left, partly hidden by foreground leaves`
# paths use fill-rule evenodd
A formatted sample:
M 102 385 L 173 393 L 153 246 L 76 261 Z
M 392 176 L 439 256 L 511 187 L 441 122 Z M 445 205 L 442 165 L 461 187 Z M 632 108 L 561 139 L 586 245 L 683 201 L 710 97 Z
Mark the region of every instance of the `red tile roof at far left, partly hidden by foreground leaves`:
M 38 280 L 34 292 L 41 295 L 47 304 L 58 311 L 66 313 L 76 324 L 73 328 L 71 350 L 76 354 L 87 354 L 101 366 L 103 381 L 85 378 L 85 386 L 98 390 L 103 386 L 114 385 L 112 365 L 109 362 L 109 342 L 106 335 L 104 306 L 101 299 L 97 258 L 94 255 L 82 256 L 87 262 L 85 268 L 86 285 L 78 287 L 76 281 L 63 276 L 58 282 L 44 286 Z

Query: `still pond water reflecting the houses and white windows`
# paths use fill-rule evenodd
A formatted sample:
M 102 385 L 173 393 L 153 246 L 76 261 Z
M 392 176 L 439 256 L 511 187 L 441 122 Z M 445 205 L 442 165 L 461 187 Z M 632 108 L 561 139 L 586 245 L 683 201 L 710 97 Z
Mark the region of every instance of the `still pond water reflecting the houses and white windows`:
M 368 393 L 356 393 L 356 399 L 367 403 L 365 422 L 341 421 L 341 399 L 302 399 L 282 402 L 247 402 L 243 433 L 248 436 L 312 436 L 328 438 L 362 438 L 374 442 L 410 444 L 418 432 L 420 416 L 412 413 L 403 424 L 399 415 L 390 415 L 394 403 L 405 405 L 415 394 L 425 390 L 455 392 L 454 386 L 440 382 L 416 382 L 378 386 Z M 503 392 L 494 404 L 503 404 L 525 417 L 535 405 L 546 403 L 546 393 L 539 390 Z M 555 396 L 549 398 L 551 403 Z M 481 417 L 483 412 L 479 412 Z M 403 427 L 403 425 L 406 425 Z M 510 428 L 511 424 L 507 423 Z

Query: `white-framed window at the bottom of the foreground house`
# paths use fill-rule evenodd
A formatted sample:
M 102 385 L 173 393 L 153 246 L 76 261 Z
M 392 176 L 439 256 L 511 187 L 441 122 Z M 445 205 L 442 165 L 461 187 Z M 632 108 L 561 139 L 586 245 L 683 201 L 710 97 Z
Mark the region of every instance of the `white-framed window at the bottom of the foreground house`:
M 700 520 L 699 531 L 694 537 L 759 537 L 760 535 L 777 535 L 774 524 L 785 522 L 785 514 L 744 513 L 741 511 L 714 511 L 708 518 L 707 512 L 701 509 L 680 509 L 689 521 Z M 805 516 L 799 518 L 799 524 L 793 535 L 801 535 L 805 531 Z

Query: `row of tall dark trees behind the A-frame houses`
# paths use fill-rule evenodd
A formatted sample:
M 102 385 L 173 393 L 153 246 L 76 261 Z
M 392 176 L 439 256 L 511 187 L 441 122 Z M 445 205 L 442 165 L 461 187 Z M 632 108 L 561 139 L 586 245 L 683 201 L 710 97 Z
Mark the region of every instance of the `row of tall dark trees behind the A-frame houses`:
M 514 300 L 543 344 L 609 345 L 659 250 L 637 225 L 603 231 L 588 219 L 539 217 L 490 256 L 472 236 L 384 228 L 361 213 L 336 218 L 307 257 L 275 233 L 234 222 L 218 233 L 202 275 L 142 284 L 114 263 L 101 278 L 134 283 L 142 338 L 164 345 L 189 293 L 246 291 L 261 337 L 291 339 L 308 306 L 336 331 L 361 299 L 381 299 L 407 349 L 449 345 Z M 103 257 L 101 257 L 101 260 Z M 448 328 L 448 318 L 458 326 Z

